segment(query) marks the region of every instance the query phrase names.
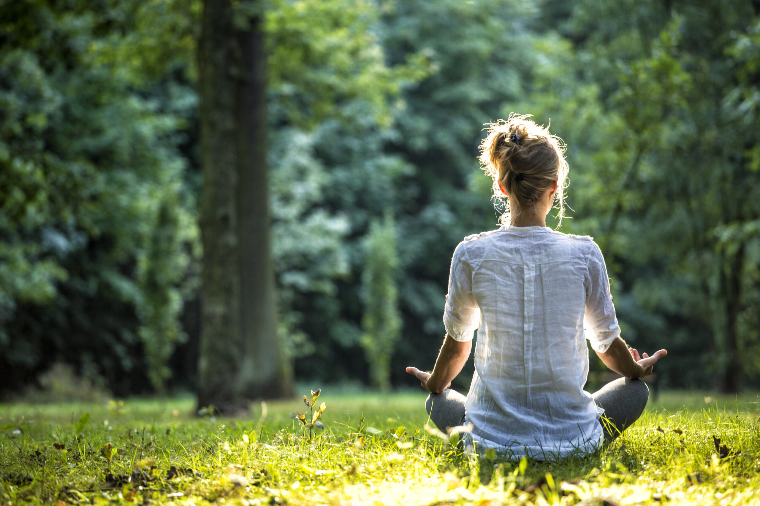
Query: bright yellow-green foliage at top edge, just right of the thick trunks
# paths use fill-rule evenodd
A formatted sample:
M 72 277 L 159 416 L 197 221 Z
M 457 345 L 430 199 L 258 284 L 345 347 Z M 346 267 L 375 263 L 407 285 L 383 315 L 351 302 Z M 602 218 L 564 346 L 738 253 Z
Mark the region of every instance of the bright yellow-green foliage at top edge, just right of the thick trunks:
M 268 5 L 272 115 L 304 128 L 359 113 L 388 127 L 388 99 L 425 74 L 424 58 L 389 67 L 376 28 L 380 10 L 366 0 L 272 0 Z M 352 110 L 353 109 L 353 110 Z

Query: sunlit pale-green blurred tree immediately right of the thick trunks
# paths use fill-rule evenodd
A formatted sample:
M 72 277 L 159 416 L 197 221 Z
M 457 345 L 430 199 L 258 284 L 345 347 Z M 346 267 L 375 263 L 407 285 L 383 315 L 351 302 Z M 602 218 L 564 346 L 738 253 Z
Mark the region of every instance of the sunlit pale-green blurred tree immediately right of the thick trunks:
M 397 97 L 429 70 L 419 53 L 386 63 L 381 14 L 363 0 L 267 11 L 280 332 L 302 378 L 366 379 L 363 238 L 409 169 L 384 152 Z

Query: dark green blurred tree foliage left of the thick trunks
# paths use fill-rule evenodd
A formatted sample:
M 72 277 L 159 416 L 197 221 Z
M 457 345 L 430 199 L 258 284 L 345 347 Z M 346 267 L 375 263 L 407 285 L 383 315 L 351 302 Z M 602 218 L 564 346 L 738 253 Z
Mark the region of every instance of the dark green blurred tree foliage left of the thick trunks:
M 55 361 L 118 394 L 164 385 L 195 244 L 175 135 L 187 53 L 139 35 L 186 40 L 163 23 L 179 4 L 0 5 L 2 388 Z

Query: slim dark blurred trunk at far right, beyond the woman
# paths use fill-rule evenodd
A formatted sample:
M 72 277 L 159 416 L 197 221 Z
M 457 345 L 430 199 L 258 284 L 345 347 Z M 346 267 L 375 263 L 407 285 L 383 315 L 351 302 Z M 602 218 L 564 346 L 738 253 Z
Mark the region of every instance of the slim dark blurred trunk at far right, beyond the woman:
M 739 346 L 739 313 L 741 310 L 742 274 L 744 270 L 744 243 L 733 256 L 725 259 L 723 285 L 726 312 L 726 338 L 723 350 L 724 369 L 718 377 L 718 389 L 727 394 L 744 388 L 744 360 Z

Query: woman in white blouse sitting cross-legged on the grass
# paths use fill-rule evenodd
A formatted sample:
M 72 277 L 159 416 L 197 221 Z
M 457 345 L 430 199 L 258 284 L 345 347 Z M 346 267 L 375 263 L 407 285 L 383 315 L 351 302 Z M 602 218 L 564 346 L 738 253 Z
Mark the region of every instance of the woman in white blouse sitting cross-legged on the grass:
M 562 220 L 568 165 L 562 140 L 528 118 L 490 125 L 480 159 L 508 211 L 501 228 L 454 250 L 438 360 L 432 374 L 407 372 L 432 392 L 426 407 L 439 429 L 471 423 L 480 448 L 546 459 L 594 451 L 634 423 L 649 397 L 641 378 L 667 351 L 640 357 L 626 346 L 597 244 L 546 227 L 555 201 Z M 476 328 L 465 398 L 449 387 Z M 624 376 L 595 394 L 583 389 L 586 338 Z

